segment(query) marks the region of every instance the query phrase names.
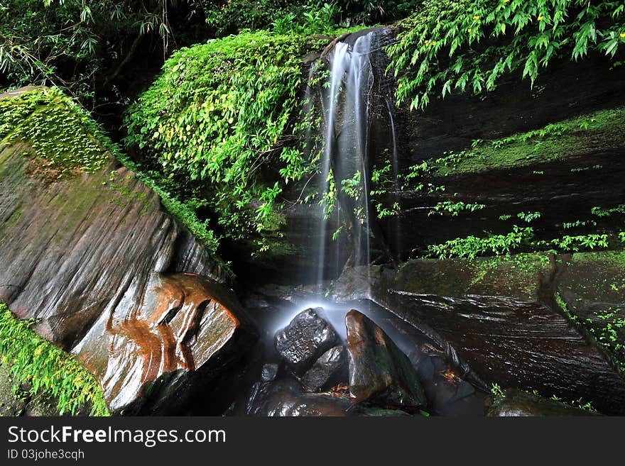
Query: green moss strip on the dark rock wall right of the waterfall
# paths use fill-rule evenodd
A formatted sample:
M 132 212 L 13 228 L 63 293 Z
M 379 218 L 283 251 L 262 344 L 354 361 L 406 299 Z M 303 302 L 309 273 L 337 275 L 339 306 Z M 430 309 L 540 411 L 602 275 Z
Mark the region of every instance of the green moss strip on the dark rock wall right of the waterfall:
M 594 148 L 614 147 L 624 141 L 623 118 L 625 109 L 604 110 L 509 138 L 477 141 L 455 163 L 435 165 L 433 174 L 440 177 L 578 157 L 588 153 L 589 140 Z M 592 161 L 588 163 L 591 169 Z

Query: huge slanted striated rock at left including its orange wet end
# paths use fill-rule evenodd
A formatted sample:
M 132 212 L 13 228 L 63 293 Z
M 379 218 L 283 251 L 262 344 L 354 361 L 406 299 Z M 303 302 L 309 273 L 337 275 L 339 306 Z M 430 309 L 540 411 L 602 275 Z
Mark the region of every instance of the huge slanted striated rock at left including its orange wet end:
M 225 270 L 104 147 L 102 170 L 55 180 L 35 152 L 0 144 L 0 300 L 84 362 L 113 412 L 180 414 L 251 344 Z

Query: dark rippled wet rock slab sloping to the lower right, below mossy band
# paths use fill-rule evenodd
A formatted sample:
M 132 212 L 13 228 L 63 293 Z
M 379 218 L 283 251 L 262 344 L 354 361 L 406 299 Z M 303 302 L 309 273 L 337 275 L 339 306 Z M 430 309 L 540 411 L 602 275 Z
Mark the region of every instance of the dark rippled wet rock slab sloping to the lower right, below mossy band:
M 602 412 L 625 412 L 623 377 L 565 316 L 539 301 L 406 292 L 393 298 L 393 311 L 415 326 L 436 328 L 487 383 L 557 391 Z

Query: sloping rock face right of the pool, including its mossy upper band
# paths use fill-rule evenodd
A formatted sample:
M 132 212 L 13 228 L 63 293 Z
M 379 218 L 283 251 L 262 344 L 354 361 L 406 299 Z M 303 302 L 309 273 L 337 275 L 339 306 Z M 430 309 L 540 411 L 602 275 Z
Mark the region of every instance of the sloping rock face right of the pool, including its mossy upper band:
M 556 299 L 558 290 L 569 301 L 573 289 L 594 295 L 595 302 L 601 295 L 579 276 L 573 279 L 575 267 L 560 271 L 565 257 L 541 257 L 414 260 L 396 270 L 376 268 L 373 299 L 440 347 L 450 345 L 487 384 L 582 398 L 603 414 L 624 414 L 625 377 L 562 314 Z M 578 269 L 587 266 L 580 263 Z M 363 273 L 346 272 L 335 296 L 353 298 L 352 274 Z M 617 296 L 604 297 L 619 302 Z M 584 302 L 577 301 L 577 308 L 585 309 Z

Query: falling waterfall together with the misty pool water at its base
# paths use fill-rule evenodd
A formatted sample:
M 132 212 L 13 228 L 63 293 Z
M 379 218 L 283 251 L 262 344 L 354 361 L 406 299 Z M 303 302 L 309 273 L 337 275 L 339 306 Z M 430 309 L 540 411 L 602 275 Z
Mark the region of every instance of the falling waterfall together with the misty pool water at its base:
M 251 362 L 254 369 L 246 371 L 248 378 L 245 381 L 237 379 L 237 386 L 246 389 L 230 414 L 258 415 L 261 412 L 261 415 L 268 415 L 269 411 L 263 411 L 265 405 L 262 409 L 258 406 L 259 390 L 276 391 L 273 394 L 275 399 L 270 404 L 280 407 L 275 408 L 278 411 L 270 409 L 271 415 L 286 415 L 290 409 L 295 409 L 293 406 L 298 406 L 296 411 L 305 411 L 305 406 L 316 406 L 320 402 L 318 396 L 324 400 L 325 395 L 322 394 L 301 393 L 299 382 L 288 371 L 281 370 L 281 375 L 271 384 L 259 382 L 263 367 L 281 362 L 273 347 L 274 335 L 286 327 L 296 314 L 309 308 L 317 309 L 317 314 L 335 328 L 342 342 L 347 336 L 345 315 L 350 309 L 357 309 L 382 328 L 414 365 L 423 355 L 423 348 L 433 348 L 434 353 L 428 356 L 432 361 L 429 364 L 431 367 L 436 365 L 437 372 L 422 370 L 420 377 L 430 396 L 442 389 L 450 389 L 443 387 L 445 378 L 441 374 L 447 374 L 449 367 L 444 362 L 443 351 L 434 348 L 436 343 L 388 309 L 365 299 L 371 297 L 370 267 L 367 266 L 376 260 L 390 260 L 388 248 L 386 251 L 384 248 L 386 240 L 377 225 L 377 213 L 371 203 L 371 190 L 376 189 L 371 184 L 371 175 L 376 162 L 384 162 L 388 167 L 386 176 L 391 178 L 391 182 L 386 184 L 385 189 L 398 191 L 399 142 L 393 116 L 393 92 L 384 74 L 386 55 L 382 50 L 389 39 L 388 30 L 384 28 L 349 35 L 344 41 L 336 43 L 324 57 L 325 62 L 322 60 L 322 64 L 311 67 L 304 112 L 307 121 L 315 121 L 315 115 L 322 116 L 321 133 L 316 138 L 322 144 L 317 190 L 326 203 L 334 203 L 332 220 L 320 213 L 315 216 L 319 218 L 317 231 L 320 238 L 317 270 L 316 277 L 309 277 L 308 282 L 316 286 L 308 287 L 307 291 L 297 287 L 259 289 L 246 297 L 246 308 L 254 315 L 261 338 L 255 352 L 256 359 Z M 309 134 L 307 140 L 312 140 L 311 136 Z M 327 213 L 328 204 L 322 204 L 320 209 Z M 347 231 L 349 240 L 332 239 L 332 230 L 337 223 L 342 226 L 343 235 Z M 398 228 L 394 230 L 392 234 L 399 237 Z M 323 291 L 329 280 L 334 279 L 344 267 L 356 266 L 364 266 L 365 274 L 369 274 L 359 285 L 363 287 L 359 289 L 359 296 L 363 299 L 346 303 L 327 299 Z M 463 387 L 466 388 L 467 384 Z M 456 389 L 452 387 L 453 391 Z M 481 411 L 482 401 L 481 396 L 469 396 L 461 406 L 455 404 L 453 411 L 456 414 L 463 410 L 467 414 Z M 327 402 L 330 401 L 323 401 Z M 439 409 L 446 408 L 439 406 Z

